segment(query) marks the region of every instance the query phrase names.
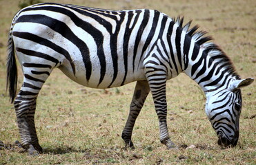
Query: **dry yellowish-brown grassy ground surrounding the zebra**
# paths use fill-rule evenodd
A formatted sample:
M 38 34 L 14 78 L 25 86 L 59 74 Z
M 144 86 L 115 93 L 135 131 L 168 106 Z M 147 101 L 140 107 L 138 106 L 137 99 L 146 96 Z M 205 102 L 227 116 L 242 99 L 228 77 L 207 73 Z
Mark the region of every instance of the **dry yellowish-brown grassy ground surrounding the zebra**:
M 242 78 L 256 78 L 256 1 L 62 0 L 97 8 L 150 8 L 170 17 L 185 16 L 201 25 L 234 62 Z M 58 69 L 43 86 L 35 115 L 43 154 L 31 157 L 19 148 L 19 131 L 6 93 L 6 43 L 19 1 L 0 0 L 0 164 L 256 164 L 256 83 L 242 89 L 240 138 L 235 148 L 217 145 L 204 113 L 204 94 L 186 75 L 168 81 L 168 129 L 179 149 L 166 150 L 149 95 L 135 124 L 135 150 L 124 150 L 121 131 L 135 83 L 114 89 L 89 89 Z M 22 74 L 19 67 L 19 83 Z M 16 144 L 15 144 L 16 142 Z M 187 146 L 194 148 L 186 149 Z

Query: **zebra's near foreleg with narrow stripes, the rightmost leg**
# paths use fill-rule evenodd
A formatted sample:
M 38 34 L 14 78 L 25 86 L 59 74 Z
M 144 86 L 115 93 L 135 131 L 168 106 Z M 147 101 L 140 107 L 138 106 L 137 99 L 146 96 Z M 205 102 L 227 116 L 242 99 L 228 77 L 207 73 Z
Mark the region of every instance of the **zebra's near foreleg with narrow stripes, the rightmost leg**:
M 152 98 L 154 100 L 155 111 L 159 119 L 160 141 L 162 144 L 165 144 L 168 149 L 176 148 L 175 144 L 170 140 L 166 122 L 166 70 L 159 65 L 150 65 L 149 67 L 145 67 L 145 71 Z

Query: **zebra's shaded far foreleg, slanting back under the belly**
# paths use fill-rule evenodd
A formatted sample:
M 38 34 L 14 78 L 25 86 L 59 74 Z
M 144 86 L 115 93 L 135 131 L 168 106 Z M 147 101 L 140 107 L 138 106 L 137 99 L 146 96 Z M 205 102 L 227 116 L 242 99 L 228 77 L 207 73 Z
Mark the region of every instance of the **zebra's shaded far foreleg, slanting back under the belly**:
M 123 138 L 126 148 L 134 148 L 132 143 L 132 129 L 135 125 L 135 121 L 141 108 L 144 105 L 146 97 L 148 96 L 150 89 L 148 86 L 148 82 L 146 80 L 137 81 L 135 91 L 133 93 L 132 102 L 130 103 L 130 112 L 128 115 L 128 119 L 126 121 L 126 126 L 124 126 L 124 131 L 122 132 L 121 137 Z

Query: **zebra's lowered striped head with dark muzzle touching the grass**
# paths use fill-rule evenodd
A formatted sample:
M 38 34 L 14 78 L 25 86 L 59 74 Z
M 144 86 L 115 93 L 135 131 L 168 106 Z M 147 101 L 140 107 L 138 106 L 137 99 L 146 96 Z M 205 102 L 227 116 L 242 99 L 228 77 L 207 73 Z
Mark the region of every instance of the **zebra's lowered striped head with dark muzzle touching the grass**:
M 233 80 L 228 89 L 206 94 L 206 115 L 217 133 L 217 143 L 221 146 L 237 145 L 239 116 L 242 109 L 240 88 L 251 83 L 253 83 L 253 78 Z

